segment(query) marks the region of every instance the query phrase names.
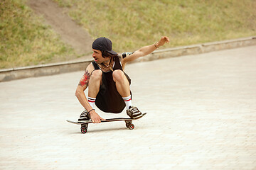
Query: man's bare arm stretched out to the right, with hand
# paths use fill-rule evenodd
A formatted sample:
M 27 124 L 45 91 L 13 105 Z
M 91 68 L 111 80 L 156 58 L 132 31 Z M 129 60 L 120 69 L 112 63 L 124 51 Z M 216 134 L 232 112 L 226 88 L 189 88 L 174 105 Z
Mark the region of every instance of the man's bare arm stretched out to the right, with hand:
M 153 45 L 147 45 L 144 47 L 141 47 L 139 50 L 135 51 L 132 55 L 129 55 L 125 57 L 122 60 L 122 66 L 124 67 L 124 64 L 127 62 L 132 62 L 134 60 L 137 60 L 139 57 L 143 57 L 145 55 L 149 55 L 151 52 L 154 52 L 158 47 L 164 45 L 165 43 L 168 43 L 170 40 L 168 37 L 161 37 L 159 42 L 154 43 Z

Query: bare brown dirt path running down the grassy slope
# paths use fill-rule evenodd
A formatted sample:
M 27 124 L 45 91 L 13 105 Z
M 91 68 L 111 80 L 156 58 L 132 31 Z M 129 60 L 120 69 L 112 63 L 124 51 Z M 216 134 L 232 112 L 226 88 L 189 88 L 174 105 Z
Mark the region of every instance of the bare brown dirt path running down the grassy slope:
M 29 0 L 36 14 L 43 15 L 46 23 L 60 34 L 63 41 L 71 45 L 79 55 L 91 52 L 92 37 L 86 30 L 78 26 L 63 8 L 51 0 Z

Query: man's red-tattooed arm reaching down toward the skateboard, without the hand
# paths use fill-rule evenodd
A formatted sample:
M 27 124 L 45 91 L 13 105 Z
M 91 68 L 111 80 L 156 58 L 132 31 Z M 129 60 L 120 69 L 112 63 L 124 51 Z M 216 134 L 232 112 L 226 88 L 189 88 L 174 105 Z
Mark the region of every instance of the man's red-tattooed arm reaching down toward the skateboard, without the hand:
M 87 86 L 89 84 L 90 75 L 92 74 L 92 71 L 94 70 L 94 67 L 92 64 L 89 64 L 88 67 L 85 69 L 85 74 L 82 76 L 82 78 L 79 81 L 78 87 L 75 91 L 75 96 L 78 98 L 78 101 L 81 103 L 81 105 L 87 110 L 92 110 L 92 107 L 87 102 L 87 98 L 85 96 L 85 89 L 87 89 Z

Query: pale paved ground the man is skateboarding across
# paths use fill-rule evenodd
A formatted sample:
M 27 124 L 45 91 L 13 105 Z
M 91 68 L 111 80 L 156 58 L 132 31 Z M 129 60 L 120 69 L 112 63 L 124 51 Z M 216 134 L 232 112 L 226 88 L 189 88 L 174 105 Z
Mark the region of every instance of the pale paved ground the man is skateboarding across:
M 65 121 L 83 111 L 83 72 L 0 83 L 0 169 L 256 169 L 256 46 L 126 72 L 147 112 L 134 130 L 114 122 L 82 134 Z

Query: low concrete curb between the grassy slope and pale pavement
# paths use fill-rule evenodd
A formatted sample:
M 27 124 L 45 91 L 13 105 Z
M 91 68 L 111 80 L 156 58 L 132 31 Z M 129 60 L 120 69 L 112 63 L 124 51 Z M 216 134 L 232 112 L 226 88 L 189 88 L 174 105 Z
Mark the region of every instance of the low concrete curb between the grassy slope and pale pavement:
M 205 52 L 226 50 L 237 47 L 256 45 L 256 37 L 239 38 L 235 40 L 225 40 L 219 42 L 208 42 L 199 45 L 189 45 L 183 47 L 167 48 L 156 50 L 146 57 L 139 58 L 136 62 L 146 62 L 159 60 L 169 57 L 178 57 L 183 55 L 197 55 Z M 67 72 L 76 72 L 84 70 L 92 60 L 82 62 L 61 62 L 55 64 L 43 64 L 31 67 L 18 67 L 12 69 L 0 69 L 0 82 L 11 81 L 15 79 L 24 79 L 28 77 L 41 77 Z

